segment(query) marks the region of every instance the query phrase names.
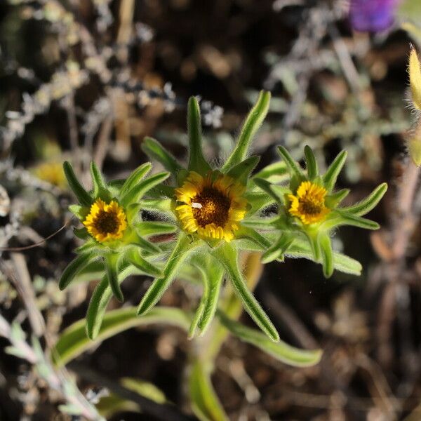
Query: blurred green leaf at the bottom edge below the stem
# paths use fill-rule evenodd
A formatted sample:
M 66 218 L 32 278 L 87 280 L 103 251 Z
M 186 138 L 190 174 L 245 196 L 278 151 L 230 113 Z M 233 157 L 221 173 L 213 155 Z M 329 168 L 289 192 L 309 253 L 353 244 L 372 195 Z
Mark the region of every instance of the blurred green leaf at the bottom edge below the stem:
M 201 421 L 229 421 L 204 364 L 196 360 L 189 368 L 189 398 L 196 417 Z

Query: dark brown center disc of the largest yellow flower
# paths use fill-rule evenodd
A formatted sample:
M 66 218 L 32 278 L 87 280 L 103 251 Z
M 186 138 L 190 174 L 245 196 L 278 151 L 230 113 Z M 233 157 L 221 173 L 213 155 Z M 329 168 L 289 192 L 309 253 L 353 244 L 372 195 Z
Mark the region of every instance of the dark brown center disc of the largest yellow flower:
M 231 202 L 224 194 L 211 187 L 203 189 L 192 199 L 193 216 L 201 227 L 214 223 L 224 227 Z

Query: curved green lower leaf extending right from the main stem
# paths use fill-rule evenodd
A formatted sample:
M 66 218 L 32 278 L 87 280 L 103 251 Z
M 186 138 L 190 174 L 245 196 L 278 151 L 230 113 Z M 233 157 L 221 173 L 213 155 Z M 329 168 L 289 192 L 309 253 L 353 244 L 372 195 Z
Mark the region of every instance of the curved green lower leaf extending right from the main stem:
M 217 314 L 221 323 L 233 335 L 240 338 L 243 342 L 258 347 L 278 361 L 282 361 L 283 363 L 294 367 L 309 367 L 319 363 L 321 359 L 321 349 L 298 349 L 291 347 L 283 341 L 272 342 L 258 330 L 243 326 L 241 323 L 229 319 L 220 311 L 218 311 Z

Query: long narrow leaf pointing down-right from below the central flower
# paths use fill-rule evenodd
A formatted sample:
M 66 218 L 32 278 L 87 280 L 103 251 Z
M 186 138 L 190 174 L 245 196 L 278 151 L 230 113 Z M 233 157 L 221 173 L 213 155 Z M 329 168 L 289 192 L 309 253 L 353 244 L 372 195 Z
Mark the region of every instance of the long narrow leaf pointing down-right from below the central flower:
M 246 281 L 241 275 L 237 262 L 237 251 L 229 244 L 224 244 L 217 248 L 214 254 L 224 266 L 225 271 L 232 281 L 234 290 L 243 302 L 246 312 L 250 314 L 251 318 L 269 336 L 269 338 L 275 342 L 279 341 L 279 334 L 276 331 L 276 328 L 269 320 L 269 317 L 263 311 L 262 307 L 260 307 L 258 300 L 255 299 L 254 295 L 248 289 Z

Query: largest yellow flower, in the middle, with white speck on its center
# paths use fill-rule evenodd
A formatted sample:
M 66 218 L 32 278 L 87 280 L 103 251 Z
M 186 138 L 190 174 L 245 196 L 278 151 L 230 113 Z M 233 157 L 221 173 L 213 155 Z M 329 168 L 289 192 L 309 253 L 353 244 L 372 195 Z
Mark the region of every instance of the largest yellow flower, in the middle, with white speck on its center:
M 228 175 L 210 171 L 202 177 L 191 171 L 182 187 L 175 189 L 183 203 L 175 208 L 182 229 L 201 238 L 231 241 L 239 229 L 237 222 L 246 215 L 247 201 L 241 197 L 245 189 Z

